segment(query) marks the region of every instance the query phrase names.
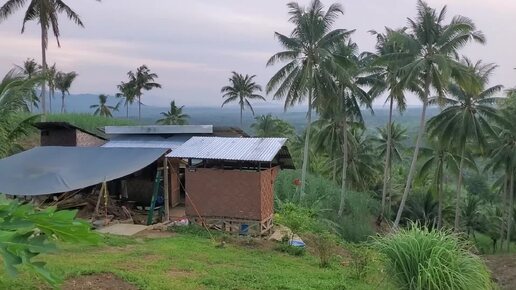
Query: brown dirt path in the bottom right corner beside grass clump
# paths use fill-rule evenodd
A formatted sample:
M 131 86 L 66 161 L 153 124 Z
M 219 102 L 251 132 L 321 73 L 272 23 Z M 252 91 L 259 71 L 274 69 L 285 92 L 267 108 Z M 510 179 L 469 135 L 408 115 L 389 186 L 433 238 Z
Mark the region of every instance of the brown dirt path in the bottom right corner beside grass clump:
M 501 289 L 516 289 L 516 255 L 484 256 Z

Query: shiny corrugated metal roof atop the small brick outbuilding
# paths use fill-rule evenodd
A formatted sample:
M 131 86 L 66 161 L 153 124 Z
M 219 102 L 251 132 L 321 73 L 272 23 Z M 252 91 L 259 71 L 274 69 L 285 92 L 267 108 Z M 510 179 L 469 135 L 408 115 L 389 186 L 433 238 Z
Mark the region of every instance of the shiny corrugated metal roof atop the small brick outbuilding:
M 192 137 L 167 157 L 270 162 L 286 138 Z

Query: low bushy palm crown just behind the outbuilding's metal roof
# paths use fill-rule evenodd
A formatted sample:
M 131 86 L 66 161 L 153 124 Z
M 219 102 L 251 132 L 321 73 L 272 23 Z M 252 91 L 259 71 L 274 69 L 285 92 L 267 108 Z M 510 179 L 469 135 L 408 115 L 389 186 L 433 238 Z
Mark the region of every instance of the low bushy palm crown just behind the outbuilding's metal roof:
M 255 122 L 251 125 L 251 128 L 254 130 L 256 137 L 291 138 L 296 135 L 294 127 L 290 123 L 273 117 L 270 113 L 254 119 Z

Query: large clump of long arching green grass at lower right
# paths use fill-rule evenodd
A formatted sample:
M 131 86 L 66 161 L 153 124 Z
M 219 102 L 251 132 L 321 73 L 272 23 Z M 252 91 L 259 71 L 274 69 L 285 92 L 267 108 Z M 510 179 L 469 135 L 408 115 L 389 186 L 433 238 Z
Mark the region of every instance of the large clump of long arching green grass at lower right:
M 494 289 L 484 262 L 450 232 L 412 224 L 375 244 L 401 289 Z

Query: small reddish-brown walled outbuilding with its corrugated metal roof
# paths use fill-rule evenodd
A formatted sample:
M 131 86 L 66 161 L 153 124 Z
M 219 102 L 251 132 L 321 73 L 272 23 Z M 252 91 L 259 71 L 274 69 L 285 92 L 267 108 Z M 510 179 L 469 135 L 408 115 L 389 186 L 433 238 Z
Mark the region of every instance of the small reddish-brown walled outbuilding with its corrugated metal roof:
M 274 216 L 274 182 L 294 168 L 286 138 L 192 137 L 167 157 L 188 160 L 186 215 L 229 232 L 264 235 Z

